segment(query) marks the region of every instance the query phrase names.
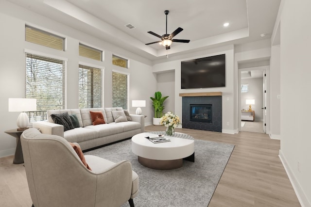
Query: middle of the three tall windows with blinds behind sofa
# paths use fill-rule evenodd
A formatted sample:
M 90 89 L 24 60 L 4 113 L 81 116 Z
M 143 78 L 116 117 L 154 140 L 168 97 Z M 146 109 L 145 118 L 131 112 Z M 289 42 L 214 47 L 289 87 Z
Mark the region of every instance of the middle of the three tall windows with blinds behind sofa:
M 79 108 L 103 106 L 103 71 L 79 64 Z

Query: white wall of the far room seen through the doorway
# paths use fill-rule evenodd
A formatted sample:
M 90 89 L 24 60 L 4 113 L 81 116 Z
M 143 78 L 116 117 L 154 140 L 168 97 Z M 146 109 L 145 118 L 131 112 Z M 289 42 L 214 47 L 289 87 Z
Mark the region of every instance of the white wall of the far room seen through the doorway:
M 252 111 L 255 111 L 255 121 L 263 121 L 262 78 L 242 79 L 241 84 L 248 84 L 248 92 L 241 93 L 241 109 L 248 110 L 249 105 L 246 104 L 246 99 L 255 99 L 255 104 L 252 105 Z

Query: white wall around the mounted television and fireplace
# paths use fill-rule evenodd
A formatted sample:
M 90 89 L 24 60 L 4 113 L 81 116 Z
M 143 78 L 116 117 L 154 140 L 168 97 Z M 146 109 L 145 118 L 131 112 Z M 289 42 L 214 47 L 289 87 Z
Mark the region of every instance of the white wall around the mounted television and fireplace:
M 191 60 L 195 58 L 203 58 L 213 55 L 225 54 L 226 59 L 226 86 L 218 88 L 204 88 L 204 89 L 181 89 L 181 61 Z M 162 73 L 165 71 L 175 71 L 174 82 L 174 98 L 175 113 L 182 119 L 182 97 L 180 93 L 200 93 L 200 92 L 222 92 L 223 93 L 223 132 L 235 133 L 235 92 L 236 92 L 236 79 L 234 69 L 234 50 L 233 45 L 204 50 L 187 55 L 180 55 L 169 58 L 167 62 L 155 63 L 153 66 L 154 73 Z M 170 96 L 171 97 L 171 96 Z M 229 126 L 226 123 L 229 122 Z

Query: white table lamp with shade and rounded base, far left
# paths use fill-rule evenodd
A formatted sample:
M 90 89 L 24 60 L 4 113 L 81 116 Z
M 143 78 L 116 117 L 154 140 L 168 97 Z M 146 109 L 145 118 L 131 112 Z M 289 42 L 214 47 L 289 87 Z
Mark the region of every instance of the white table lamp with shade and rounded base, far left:
M 25 130 L 29 124 L 29 117 L 25 111 L 36 111 L 37 99 L 35 98 L 9 98 L 9 111 L 21 112 L 17 117 L 17 130 Z

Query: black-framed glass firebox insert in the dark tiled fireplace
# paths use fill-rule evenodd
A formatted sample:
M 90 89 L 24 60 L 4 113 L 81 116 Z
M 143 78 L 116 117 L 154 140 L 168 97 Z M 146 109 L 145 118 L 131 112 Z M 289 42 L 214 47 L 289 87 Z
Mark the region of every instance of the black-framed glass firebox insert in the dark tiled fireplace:
M 212 123 L 212 105 L 190 104 L 190 121 Z

